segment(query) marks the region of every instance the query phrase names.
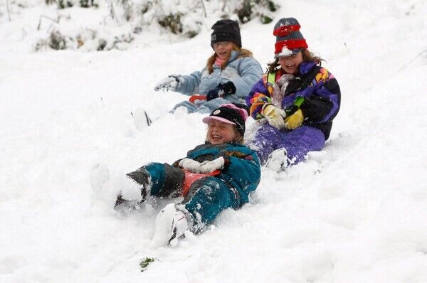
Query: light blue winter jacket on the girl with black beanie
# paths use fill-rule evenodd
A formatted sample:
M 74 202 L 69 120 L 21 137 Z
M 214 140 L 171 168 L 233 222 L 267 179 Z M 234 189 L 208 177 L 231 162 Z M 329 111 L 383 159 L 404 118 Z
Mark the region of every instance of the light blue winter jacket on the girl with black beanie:
M 206 95 L 209 90 L 213 90 L 220 82 L 233 82 L 236 87 L 236 93 L 225 95 L 224 100 L 228 102 L 245 103 L 245 97 L 251 92 L 251 87 L 260 80 L 263 75 L 263 69 L 253 57 L 241 57 L 236 50 L 231 51 L 231 56 L 224 70 L 214 65 L 214 72 L 209 74 L 208 70 L 203 68 L 191 75 L 181 75 L 183 79 L 176 88 L 177 92 L 184 95 Z

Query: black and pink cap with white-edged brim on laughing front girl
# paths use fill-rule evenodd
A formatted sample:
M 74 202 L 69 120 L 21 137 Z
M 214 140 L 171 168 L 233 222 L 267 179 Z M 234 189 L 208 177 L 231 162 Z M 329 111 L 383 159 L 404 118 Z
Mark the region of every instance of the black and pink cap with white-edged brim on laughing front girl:
M 227 103 L 212 111 L 211 115 L 204 117 L 202 122 L 208 124 L 211 120 L 236 125 L 238 132 L 245 135 L 245 122 L 248 119 L 248 107 L 239 103 Z

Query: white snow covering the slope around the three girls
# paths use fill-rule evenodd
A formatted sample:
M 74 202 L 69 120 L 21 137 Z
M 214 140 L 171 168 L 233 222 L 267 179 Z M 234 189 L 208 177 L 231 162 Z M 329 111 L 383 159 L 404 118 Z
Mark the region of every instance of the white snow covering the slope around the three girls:
M 1 5 L 0 282 L 427 282 L 425 1 L 283 2 L 275 21 L 297 18 L 341 87 L 331 137 L 283 173 L 263 168 L 251 203 L 206 233 L 160 248 L 150 240 L 167 201 L 112 206 L 125 173 L 204 141 L 204 115 L 169 114 L 185 97 L 153 87 L 205 64 L 209 28 L 188 41 L 154 30 L 125 51 L 31 53 L 36 36 L 21 33 L 45 8 L 9 22 Z M 263 67 L 275 21 L 241 26 Z

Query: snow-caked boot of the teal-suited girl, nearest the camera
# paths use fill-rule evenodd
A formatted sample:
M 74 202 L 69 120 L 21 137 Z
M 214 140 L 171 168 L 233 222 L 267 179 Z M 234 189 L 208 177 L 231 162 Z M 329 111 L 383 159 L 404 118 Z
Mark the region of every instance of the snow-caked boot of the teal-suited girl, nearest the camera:
M 169 203 L 157 215 L 152 247 L 162 247 L 169 243 L 176 246 L 178 238 L 184 235 L 188 227 L 185 213 L 176 210 L 174 203 Z

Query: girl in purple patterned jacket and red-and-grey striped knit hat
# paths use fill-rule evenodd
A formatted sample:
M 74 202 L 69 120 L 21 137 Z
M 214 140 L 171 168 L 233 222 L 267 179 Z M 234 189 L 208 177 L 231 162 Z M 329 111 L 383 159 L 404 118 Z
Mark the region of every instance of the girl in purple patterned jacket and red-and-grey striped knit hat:
M 341 94 L 322 59 L 307 49 L 295 18 L 281 18 L 273 35 L 275 61 L 246 97 L 251 116 L 265 122 L 249 146 L 263 164 L 280 161 L 283 169 L 325 146 Z

